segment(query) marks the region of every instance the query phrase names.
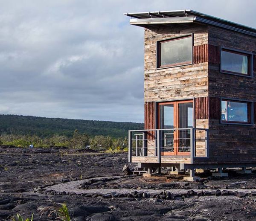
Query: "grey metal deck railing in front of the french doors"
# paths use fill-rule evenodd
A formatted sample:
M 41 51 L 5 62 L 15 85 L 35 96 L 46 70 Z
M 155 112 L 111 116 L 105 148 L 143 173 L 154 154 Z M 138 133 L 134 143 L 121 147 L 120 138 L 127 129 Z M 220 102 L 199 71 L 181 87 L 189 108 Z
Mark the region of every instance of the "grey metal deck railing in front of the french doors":
M 128 161 L 132 157 L 186 156 L 191 158 L 209 157 L 209 129 L 170 128 L 155 130 L 133 130 L 128 132 Z

